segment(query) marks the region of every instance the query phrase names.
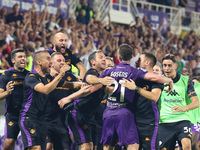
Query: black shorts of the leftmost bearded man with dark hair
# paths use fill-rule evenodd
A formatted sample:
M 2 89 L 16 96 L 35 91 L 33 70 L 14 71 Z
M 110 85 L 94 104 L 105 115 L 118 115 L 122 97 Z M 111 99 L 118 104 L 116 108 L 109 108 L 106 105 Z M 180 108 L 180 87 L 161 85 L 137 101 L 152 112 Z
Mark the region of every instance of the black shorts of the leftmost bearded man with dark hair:
M 16 140 L 20 131 L 19 124 L 18 124 L 19 117 L 16 115 L 7 113 L 5 118 L 6 118 L 6 125 L 5 125 L 5 130 L 4 130 L 5 132 L 4 137 Z

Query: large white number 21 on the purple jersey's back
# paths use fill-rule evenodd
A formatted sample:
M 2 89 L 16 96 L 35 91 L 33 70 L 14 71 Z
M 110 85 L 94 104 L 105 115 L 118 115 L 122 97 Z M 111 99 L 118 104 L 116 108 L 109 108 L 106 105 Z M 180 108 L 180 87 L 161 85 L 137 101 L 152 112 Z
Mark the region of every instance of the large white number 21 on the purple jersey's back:
M 119 80 L 119 82 L 124 82 L 124 80 Z M 114 81 L 114 90 L 111 94 L 108 95 L 108 99 L 112 100 L 112 101 L 116 101 L 116 97 L 111 97 L 111 95 L 117 90 L 118 86 L 119 86 L 119 83 L 117 81 Z M 120 102 L 124 102 L 124 95 L 125 95 L 125 87 L 122 87 L 121 86 L 121 89 L 120 89 Z

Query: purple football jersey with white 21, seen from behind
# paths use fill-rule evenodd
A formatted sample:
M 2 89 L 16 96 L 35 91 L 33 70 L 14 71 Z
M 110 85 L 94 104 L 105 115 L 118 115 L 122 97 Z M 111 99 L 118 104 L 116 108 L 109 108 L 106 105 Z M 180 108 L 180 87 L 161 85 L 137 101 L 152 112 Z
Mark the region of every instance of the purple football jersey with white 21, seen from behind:
M 131 67 L 127 63 L 119 63 L 119 65 L 101 73 L 100 78 L 110 76 L 115 79 L 114 91 L 108 96 L 103 118 L 115 115 L 131 115 L 131 112 L 127 109 L 127 105 L 133 102 L 135 91 L 122 87 L 120 82 L 123 81 L 123 78 L 132 79 L 133 81 L 138 78 L 144 79 L 146 73 L 140 69 Z M 120 111 L 118 111 L 119 109 Z

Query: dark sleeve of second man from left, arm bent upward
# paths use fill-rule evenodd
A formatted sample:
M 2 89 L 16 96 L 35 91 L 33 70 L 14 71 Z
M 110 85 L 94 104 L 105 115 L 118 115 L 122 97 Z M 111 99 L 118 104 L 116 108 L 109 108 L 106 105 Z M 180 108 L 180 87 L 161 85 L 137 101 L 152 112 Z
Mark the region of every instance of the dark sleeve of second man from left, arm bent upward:
M 39 84 L 39 83 L 42 83 L 42 82 L 40 81 L 40 79 L 38 79 L 38 78 L 36 77 L 35 74 L 29 74 L 29 75 L 27 75 L 26 78 L 25 78 L 25 84 L 26 84 L 28 87 L 30 87 L 31 89 L 34 89 L 34 87 L 35 87 L 37 84 Z

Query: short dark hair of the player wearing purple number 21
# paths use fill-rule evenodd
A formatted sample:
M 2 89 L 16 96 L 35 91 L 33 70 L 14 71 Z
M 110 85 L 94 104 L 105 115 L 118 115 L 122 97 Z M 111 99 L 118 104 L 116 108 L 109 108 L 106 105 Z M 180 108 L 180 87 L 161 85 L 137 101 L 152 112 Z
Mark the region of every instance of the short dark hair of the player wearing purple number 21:
M 121 56 L 122 60 L 129 61 L 133 55 L 133 49 L 128 44 L 121 44 L 119 46 L 119 55 Z

